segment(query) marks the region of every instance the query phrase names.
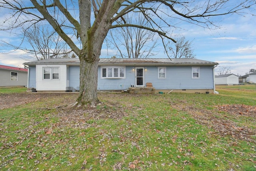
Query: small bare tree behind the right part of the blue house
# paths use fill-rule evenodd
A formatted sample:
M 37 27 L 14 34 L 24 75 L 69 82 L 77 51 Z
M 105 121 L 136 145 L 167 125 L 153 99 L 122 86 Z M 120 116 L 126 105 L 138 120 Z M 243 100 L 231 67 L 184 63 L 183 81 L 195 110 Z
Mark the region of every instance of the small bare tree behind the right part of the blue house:
M 185 37 L 177 37 L 176 43 L 170 42 L 170 54 L 173 58 L 196 58 L 194 50 L 192 49 L 192 42 L 186 40 Z

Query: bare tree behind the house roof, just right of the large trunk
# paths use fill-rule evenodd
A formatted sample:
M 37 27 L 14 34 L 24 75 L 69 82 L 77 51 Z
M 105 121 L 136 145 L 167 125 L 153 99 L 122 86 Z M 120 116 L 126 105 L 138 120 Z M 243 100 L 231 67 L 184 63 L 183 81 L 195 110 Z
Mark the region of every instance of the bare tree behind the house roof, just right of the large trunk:
M 138 26 L 147 26 L 149 22 L 144 18 L 142 13 L 131 14 L 132 16 L 124 16 L 118 24 L 135 24 Z M 112 49 L 116 49 L 121 58 L 148 58 L 156 55 L 154 51 L 157 46 L 157 36 L 155 32 L 151 32 L 144 28 L 137 27 L 121 27 L 109 31 L 109 38 L 106 39 L 107 44 Z

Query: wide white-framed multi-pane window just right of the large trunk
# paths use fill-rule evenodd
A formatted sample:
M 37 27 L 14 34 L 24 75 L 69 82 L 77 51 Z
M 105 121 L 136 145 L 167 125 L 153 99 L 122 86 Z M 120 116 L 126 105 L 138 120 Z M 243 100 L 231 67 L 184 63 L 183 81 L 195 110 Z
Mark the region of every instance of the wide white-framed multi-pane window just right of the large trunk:
M 125 77 L 125 72 L 124 72 L 124 67 L 102 67 L 101 68 L 101 77 L 102 78 L 124 78 Z

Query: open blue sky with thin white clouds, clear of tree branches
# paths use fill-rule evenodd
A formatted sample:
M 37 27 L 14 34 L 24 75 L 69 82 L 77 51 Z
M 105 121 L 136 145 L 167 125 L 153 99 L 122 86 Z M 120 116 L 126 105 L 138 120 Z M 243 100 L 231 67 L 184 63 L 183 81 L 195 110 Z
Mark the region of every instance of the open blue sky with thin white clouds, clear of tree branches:
M 3 18 L 0 16 L 0 21 Z M 244 75 L 251 68 L 256 69 L 256 17 L 252 15 L 231 15 L 214 18 L 218 29 L 206 29 L 200 26 L 180 22 L 173 34 L 181 34 L 186 40 L 193 40 L 193 49 L 196 58 L 218 62 L 220 67 L 230 68 L 232 74 Z M 0 31 L 0 39 L 7 42 L 19 42 L 20 39 Z M 159 53 L 156 58 L 168 58 L 161 44 L 157 47 Z M 108 51 L 108 52 L 107 52 Z M 21 50 L 12 51 L 1 49 L 0 65 L 23 67 L 24 62 L 30 59 Z M 111 58 L 116 52 L 102 46 L 101 58 Z M 218 71 L 216 71 L 218 72 Z

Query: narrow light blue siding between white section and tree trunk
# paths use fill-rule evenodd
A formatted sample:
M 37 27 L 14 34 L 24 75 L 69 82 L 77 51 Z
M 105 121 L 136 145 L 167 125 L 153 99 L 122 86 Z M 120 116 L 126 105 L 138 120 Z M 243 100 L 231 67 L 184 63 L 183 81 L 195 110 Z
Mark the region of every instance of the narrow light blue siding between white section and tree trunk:
M 69 66 L 68 70 L 68 79 L 69 85 L 68 87 L 73 87 L 77 89 L 80 86 L 80 66 Z

